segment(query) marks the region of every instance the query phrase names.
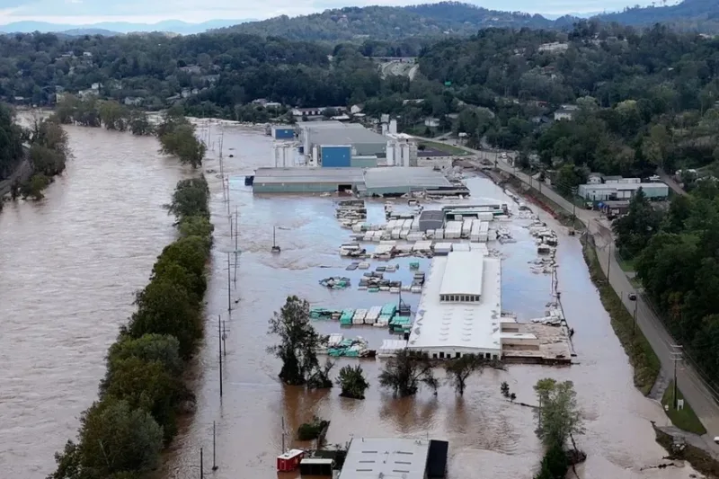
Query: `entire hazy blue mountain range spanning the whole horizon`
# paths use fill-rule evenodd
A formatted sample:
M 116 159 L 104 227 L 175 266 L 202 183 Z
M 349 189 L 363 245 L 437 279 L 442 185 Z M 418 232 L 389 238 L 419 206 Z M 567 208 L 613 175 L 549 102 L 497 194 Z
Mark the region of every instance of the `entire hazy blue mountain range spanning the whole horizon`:
M 262 21 L 246 19 L 188 23 L 168 20 L 157 23 L 102 22 L 88 25 L 14 22 L 0 25 L 0 33 L 52 31 L 66 35 L 111 36 L 140 31 L 164 31 L 181 35 L 213 31 L 277 36 L 289 40 L 396 40 L 471 35 L 477 30 L 491 27 L 565 29 L 587 17 L 634 26 L 660 22 L 683 31 L 718 34 L 719 0 L 684 0 L 680 4 L 668 6 L 626 8 L 617 13 L 575 13 L 558 17 L 500 12 L 474 4 L 441 2 L 404 7 L 345 7 L 292 18 L 282 15 Z

